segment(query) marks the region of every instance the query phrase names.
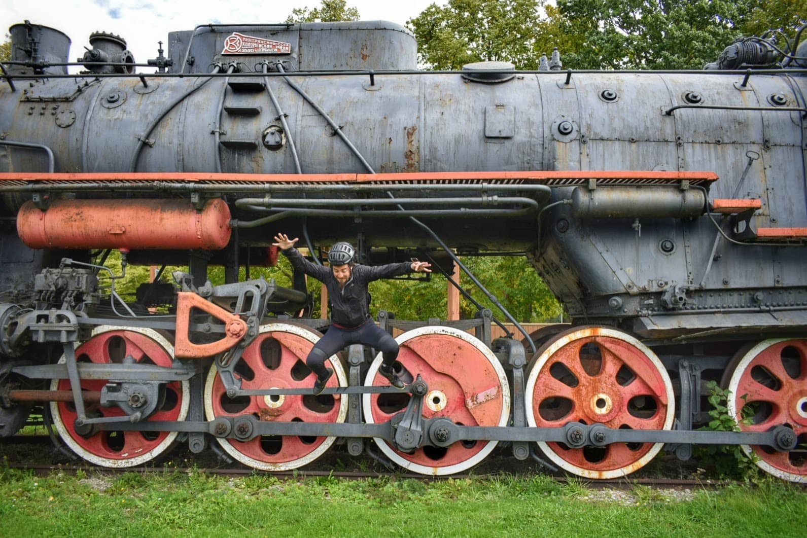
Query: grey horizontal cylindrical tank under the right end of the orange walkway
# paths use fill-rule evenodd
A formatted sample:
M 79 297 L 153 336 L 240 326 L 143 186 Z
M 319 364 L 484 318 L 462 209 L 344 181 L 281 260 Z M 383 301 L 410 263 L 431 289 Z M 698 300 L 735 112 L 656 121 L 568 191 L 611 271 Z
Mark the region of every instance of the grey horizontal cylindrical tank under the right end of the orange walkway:
M 577 187 L 571 208 L 580 219 L 678 218 L 703 215 L 705 195 L 697 189 L 669 187 Z

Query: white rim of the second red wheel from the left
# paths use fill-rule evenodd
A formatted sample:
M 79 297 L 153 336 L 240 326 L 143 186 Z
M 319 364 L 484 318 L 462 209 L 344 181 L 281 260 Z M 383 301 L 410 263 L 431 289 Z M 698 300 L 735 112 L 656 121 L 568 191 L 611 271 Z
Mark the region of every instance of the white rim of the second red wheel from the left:
M 260 333 L 265 332 L 290 332 L 291 334 L 295 334 L 297 336 L 301 336 L 302 338 L 308 340 L 312 344 L 316 344 L 317 340 L 320 339 L 320 336 L 316 335 L 316 333 L 309 331 L 305 327 L 300 327 L 299 325 L 291 325 L 289 323 L 267 323 L 266 325 L 261 325 Z M 304 357 L 302 357 L 304 359 Z M 347 386 L 347 376 L 345 375 L 345 369 L 342 368 L 341 362 L 337 358 L 336 355 L 332 355 L 328 358 L 328 361 L 331 363 L 331 367 L 333 368 L 333 373 L 337 376 L 337 381 L 339 382 L 339 386 Z M 215 412 L 213 411 L 213 401 L 212 401 L 212 394 L 213 394 L 213 383 L 215 382 L 215 378 L 218 375 L 218 369 L 215 368 L 215 365 L 211 366 L 210 372 L 207 373 L 207 382 L 205 383 L 204 388 L 204 409 L 205 414 L 207 415 L 208 420 L 215 419 Z M 268 387 L 267 387 L 268 388 Z M 259 397 L 262 398 L 262 397 Z M 348 414 L 348 398 L 340 398 L 339 399 L 339 414 L 337 415 L 337 420 L 335 423 L 343 423 L 345 422 L 345 418 Z M 244 465 L 248 465 L 249 467 L 253 467 L 254 469 L 261 469 L 264 471 L 288 471 L 291 469 L 297 469 L 302 467 L 303 465 L 308 465 L 312 461 L 315 461 L 318 457 L 322 456 L 324 453 L 328 451 L 328 448 L 331 448 L 331 445 L 337 440 L 336 437 L 326 437 L 325 440 L 312 452 L 307 453 L 303 457 L 299 457 L 293 461 L 284 461 L 280 463 L 268 462 L 268 461 L 260 461 L 256 460 L 253 457 L 247 456 L 245 453 L 241 453 L 228 439 L 223 439 L 220 437 L 215 438 L 216 442 L 218 442 L 221 448 L 224 448 L 224 451 L 228 453 L 230 456 L 235 458 L 237 461 L 240 461 Z

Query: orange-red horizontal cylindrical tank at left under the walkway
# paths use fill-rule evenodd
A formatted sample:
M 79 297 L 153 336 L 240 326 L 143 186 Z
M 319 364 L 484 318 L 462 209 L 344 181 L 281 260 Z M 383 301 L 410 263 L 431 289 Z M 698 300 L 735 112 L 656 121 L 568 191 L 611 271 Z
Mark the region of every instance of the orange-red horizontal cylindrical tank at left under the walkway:
M 19 237 L 31 248 L 200 248 L 230 240 L 230 210 L 209 200 L 196 211 L 187 200 L 56 200 L 40 210 L 26 202 Z

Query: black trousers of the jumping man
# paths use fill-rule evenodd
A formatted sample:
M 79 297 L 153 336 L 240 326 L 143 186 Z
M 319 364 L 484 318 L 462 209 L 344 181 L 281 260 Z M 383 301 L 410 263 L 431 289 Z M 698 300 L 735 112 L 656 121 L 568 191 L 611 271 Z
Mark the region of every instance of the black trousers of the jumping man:
M 312 369 L 320 378 L 325 377 L 327 373 L 325 360 L 350 344 L 365 344 L 382 352 L 382 360 L 385 365 L 391 366 L 398 357 L 398 342 L 388 332 L 373 323 L 372 319 L 368 319 L 366 323 L 353 329 L 343 329 L 331 325 L 325 336 L 320 338 L 320 341 L 308 353 L 306 358 L 308 368 Z

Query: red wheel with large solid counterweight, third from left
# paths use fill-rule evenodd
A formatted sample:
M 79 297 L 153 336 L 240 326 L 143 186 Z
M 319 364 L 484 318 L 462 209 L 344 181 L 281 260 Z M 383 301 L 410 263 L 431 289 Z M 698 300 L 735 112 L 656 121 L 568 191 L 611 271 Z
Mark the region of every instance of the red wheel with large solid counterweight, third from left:
M 506 426 L 510 416 L 510 389 L 499 360 L 480 340 L 452 327 L 419 327 L 395 339 L 400 345 L 395 371 L 406 382 L 418 374 L 429 385 L 424 396 L 426 419 L 444 417 L 465 426 Z M 370 365 L 365 386 L 389 385 L 378 374 L 382 357 Z M 405 411 L 410 395 L 365 394 L 367 423 L 387 422 Z M 497 441 L 460 441 L 446 448 L 424 446 L 408 454 L 387 441 L 375 439 L 378 448 L 404 469 L 415 473 L 460 473 L 482 461 Z

